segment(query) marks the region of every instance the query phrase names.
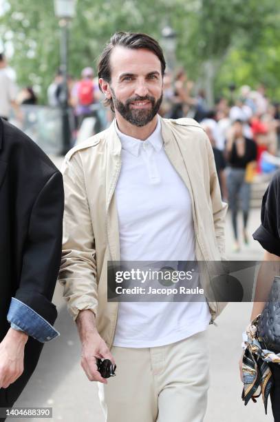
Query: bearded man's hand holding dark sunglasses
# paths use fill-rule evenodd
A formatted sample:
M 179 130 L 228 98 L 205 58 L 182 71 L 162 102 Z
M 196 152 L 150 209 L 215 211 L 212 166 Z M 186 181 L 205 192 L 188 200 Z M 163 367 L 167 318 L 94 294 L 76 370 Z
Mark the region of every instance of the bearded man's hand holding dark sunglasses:
M 76 320 L 80 341 L 82 343 L 82 365 L 89 381 L 99 381 L 107 384 L 107 379 L 100 375 L 97 370 L 96 358 L 110 359 L 115 365 L 112 356 L 105 341 L 100 337 L 95 325 L 95 316 L 90 310 L 80 311 Z

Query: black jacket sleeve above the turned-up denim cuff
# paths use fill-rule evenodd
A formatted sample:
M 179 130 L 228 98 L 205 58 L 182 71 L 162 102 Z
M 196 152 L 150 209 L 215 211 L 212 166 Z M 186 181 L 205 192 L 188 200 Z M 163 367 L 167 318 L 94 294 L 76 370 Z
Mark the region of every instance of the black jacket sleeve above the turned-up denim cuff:
M 57 316 L 52 295 L 61 261 L 63 202 L 63 180 L 57 171 L 43 185 L 34 201 L 20 284 L 14 295 L 50 324 Z

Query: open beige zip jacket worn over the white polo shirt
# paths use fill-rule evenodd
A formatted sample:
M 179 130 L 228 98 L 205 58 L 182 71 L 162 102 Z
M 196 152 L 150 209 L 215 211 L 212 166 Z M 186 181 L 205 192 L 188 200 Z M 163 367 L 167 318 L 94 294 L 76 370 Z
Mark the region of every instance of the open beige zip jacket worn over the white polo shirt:
M 191 194 L 197 261 L 224 259 L 222 202 L 211 143 L 193 119 L 161 119 L 164 150 Z M 70 150 L 63 164 L 65 213 L 59 281 L 74 319 L 80 310 L 96 314 L 100 336 L 114 340 L 118 303 L 107 302 L 107 261 L 120 260 L 114 190 L 121 166 L 114 122 Z M 209 277 L 202 287 L 211 289 Z M 225 303 L 208 301 L 212 320 Z

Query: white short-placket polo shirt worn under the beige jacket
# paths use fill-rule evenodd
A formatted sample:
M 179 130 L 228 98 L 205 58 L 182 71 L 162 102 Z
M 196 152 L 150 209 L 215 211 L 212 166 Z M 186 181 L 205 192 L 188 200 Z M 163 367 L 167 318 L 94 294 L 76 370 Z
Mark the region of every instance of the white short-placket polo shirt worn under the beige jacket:
M 116 124 L 116 121 L 115 121 Z M 145 141 L 116 131 L 122 167 L 116 185 L 121 261 L 195 261 L 191 197 L 167 158 L 160 119 Z M 114 345 L 151 348 L 206 330 L 206 302 L 119 303 Z

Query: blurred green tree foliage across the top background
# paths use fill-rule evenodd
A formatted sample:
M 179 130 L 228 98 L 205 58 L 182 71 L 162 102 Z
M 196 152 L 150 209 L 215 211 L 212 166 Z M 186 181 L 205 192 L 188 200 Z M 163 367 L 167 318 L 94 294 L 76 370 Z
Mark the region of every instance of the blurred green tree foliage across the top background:
M 59 66 L 59 27 L 52 0 L 6 0 L 0 16 L 4 45 L 21 86 L 41 87 L 41 100 Z M 168 23 L 177 32 L 177 60 L 192 79 L 215 68 L 216 94 L 229 83 L 268 85 L 280 97 L 280 0 L 78 0 L 69 33 L 69 72 L 96 67 L 105 42 L 117 30 L 147 32 L 161 40 Z

